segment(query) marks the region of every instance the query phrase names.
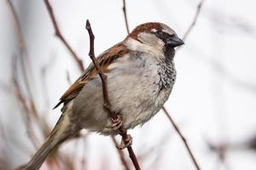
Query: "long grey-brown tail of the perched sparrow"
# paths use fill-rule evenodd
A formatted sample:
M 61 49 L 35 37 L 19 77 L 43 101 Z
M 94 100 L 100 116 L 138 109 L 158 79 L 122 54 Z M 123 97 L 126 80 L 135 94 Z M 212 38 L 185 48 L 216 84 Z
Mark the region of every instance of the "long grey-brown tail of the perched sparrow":
M 46 139 L 44 144 L 26 164 L 26 170 L 38 170 L 51 151 L 55 150 L 61 143 L 74 135 L 73 128 L 69 124 L 67 115 L 62 115 L 48 139 Z

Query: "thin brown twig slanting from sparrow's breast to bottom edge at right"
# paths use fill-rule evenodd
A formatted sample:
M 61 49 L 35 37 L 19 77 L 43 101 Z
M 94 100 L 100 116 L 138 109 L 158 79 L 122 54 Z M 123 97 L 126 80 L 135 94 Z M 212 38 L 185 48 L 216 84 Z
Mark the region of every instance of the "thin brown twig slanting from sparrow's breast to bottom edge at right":
M 176 130 L 178 136 L 182 139 L 183 144 L 186 146 L 186 149 L 189 152 L 189 156 L 191 158 L 191 160 L 193 161 L 195 167 L 197 170 L 201 170 L 201 168 L 199 167 L 199 164 L 197 163 L 197 161 L 195 160 L 195 156 L 192 153 L 189 144 L 187 142 L 187 139 L 185 139 L 185 137 L 183 136 L 183 133 L 181 133 L 181 131 L 179 130 L 179 128 L 177 127 L 177 124 L 173 121 L 172 116 L 170 116 L 170 114 L 168 113 L 168 111 L 166 111 L 165 106 L 162 107 L 163 111 L 165 112 L 166 116 L 168 117 L 169 121 L 172 123 L 172 126 L 174 127 L 174 129 Z

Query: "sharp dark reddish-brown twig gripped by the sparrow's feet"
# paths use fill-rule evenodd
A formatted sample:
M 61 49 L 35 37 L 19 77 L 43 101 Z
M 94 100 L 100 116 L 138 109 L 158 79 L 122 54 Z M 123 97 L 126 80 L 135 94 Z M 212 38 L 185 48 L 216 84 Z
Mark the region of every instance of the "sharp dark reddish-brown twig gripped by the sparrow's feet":
M 115 120 L 118 120 L 118 116 L 111 111 L 110 109 L 110 103 L 109 103 L 109 99 L 108 99 L 108 77 L 107 75 L 103 74 L 102 69 L 100 67 L 100 65 L 97 63 L 96 61 L 96 56 L 94 53 L 94 35 L 93 32 L 91 30 L 91 26 L 90 26 L 90 22 L 89 20 L 86 20 L 86 30 L 89 33 L 90 36 L 90 52 L 89 52 L 89 56 L 90 59 L 92 60 L 92 62 L 94 63 L 95 67 L 96 67 L 96 71 L 99 74 L 99 76 L 101 77 L 102 80 L 102 93 L 103 93 L 103 99 L 104 99 L 104 108 L 108 111 L 109 116 L 112 117 L 113 122 L 115 122 Z M 125 139 L 129 139 L 128 134 L 126 133 L 125 129 L 123 129 L 123 127 L 119 127 L 119 134 L 122 136 L 123 141 L 126 141 Z M 129 156 L 131 158 L 131 161 L 133 162 L 134 167 L 136 168 L 136 170 L 140 170 L 140 166 L 137 162 L 137 157 L 135 156 L 131 145 L 127 146 L 127 150 L 129 152 Z

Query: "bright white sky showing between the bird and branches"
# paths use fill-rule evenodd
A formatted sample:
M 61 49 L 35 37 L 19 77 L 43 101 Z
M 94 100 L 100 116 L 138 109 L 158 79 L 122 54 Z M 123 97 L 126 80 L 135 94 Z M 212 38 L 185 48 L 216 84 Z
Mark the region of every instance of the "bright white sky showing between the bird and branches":
M 54 62 L 46 77 L 49 94 L 49 109 L 45 116 L 52 125 L 60 116 L 60 110 L 50 109 L 67 89 L 66 72 L 72 81 L 79 77 L 79 70 L 63 44 L 54 37 L 43 1 L 13 0 L 19 11 L 22 29 L 32 64 L 33 95 L 38 99 L 39 111 L 45 107 L 45 92 L 42 91 L 40 68 Z M 195 0 L 127 0 L 127 15 L 130 29 L 148 21 L 160 21 L 171 26 L 182 37 L 192 21 Z M 90 62 L 89 37 L 84 29 L 85 20 L 90 19 L 96 36 L 96 54 L 102 53 L 126 35 L 121 0 L 55 0 L 51 1 L 61 32 L 74 50 L 84 60 Z M 11 56 L 18 54 L 12 20 L 5 1 L 0 1 L 0 82 L 10 84 Z M 213 143 L 240 143 L 256 135 L 256 77 L 255 77 L 255 2 L 239 0 L 206 0 L 195 28 L 189 34 L 186 44 L 176 54 L 177 82 L 170 99 L 166 102 L 168 111 L 183 130 L 184 135 L 200 162 L 202 169 L 217 169 L 218 159 L 207 150 L 207 140 Z M 16 138 L 26 141 L 26 131 L 20 122 L 17 101 L 9 93 L 0 91 L 0 119 L 5 127 L 11 129 Z M 48 113 L 49 112 L 49 113 Z M 17 118 L 18 117 L 18 118 Z M 15 125 L 12 126 L 12 125 Z M 193 169 L 184 146 L 178 139 L 171 124 L 163 113 L 159 113 L 142 128 L 130 132 L 133 136 L 136 153 L 154 147 L 166 138 L 159 159 L 159 169 Z M 22 137 L 21 137 L 22 136 Z M 0 140 L 1 141 L 1 140 Z M 12 139 L 10 138 L 11 142 Z M 117 153 L 108 137 L 91 134 L 86 140 L 87 148 L 81 150 L 88 158 L 89 169 L 101 169 L 101 161 L 110 169 L 118 169 Z M 26 141 L 27 143 L 27 141 Z M 82 139 L 79 140 L 82 145 Z M 73 150 L 73 142 L 63 144 Z M 20 153 L 9 144 L 9 156 L 15 164 L 24 163 L 27 153 Z M 28 150 L 33 152 L 30 144 Z M 1 155 L 1 154 L 0 154 Z M 150 169 L 150 159 L 141 162 L 143 169 Z M 113 162 L 109 162 L 109 157 Z M 232 170 L 254 170 L 256 152 L 232 150 L 227 162 Z M 128 159 L 128 156 L 127 156 Z M 129 159 L 128 159 L 129 160 Z M 99 163 L 101 164 L 101 163 Z M 92 168 L 93 167 L 93 168 Z M 104 167 L 104 169 L 107 167 Z M 151 169 L 154 166 L 151 165 Z

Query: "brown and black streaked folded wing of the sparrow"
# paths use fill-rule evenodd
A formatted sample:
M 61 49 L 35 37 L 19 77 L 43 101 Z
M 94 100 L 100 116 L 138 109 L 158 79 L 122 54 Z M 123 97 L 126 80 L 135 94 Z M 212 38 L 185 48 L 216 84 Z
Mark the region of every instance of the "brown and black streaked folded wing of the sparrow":
M 114 61 L 118 58 L 125 56 L 128 54 L 129 50 L 125 47 L 123 43 L 118 43 L 114 45 L 112 48 L 109 48 L 103 54 L 97 57 L 97 62 L 101 66 L 103 72 L 108 72 L 109 65 L 112 65 Z M 65 105 L 68 101 L 74 99 L 79 92 L 82 90 L 84 85 L 87 82 L 90 82 L 91 79 L 96 77 L 97 72 L 93 63 L 90 63 L 89 67 L 84 71 L 84 74 L 79 77 L 79 79 L 71 85 L 67 91 L 61 96 L 61 99 L 57 105 L 55 105 L 54 109 L 57 108 L 62 103 Z

